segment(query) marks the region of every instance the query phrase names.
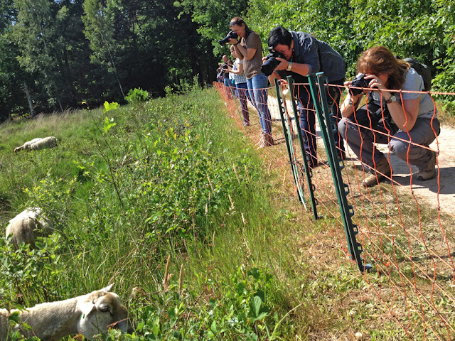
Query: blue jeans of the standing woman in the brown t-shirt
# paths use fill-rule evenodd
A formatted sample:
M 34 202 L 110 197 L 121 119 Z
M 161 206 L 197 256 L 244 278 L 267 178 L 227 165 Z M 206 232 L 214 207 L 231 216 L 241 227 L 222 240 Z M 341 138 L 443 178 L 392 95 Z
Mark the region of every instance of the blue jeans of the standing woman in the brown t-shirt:
M 259 114 L 262 133 L 271 135 L 272 121 L 267 106 L 267 85 L 269 85 L 269 81 L 263 73 L 247 79 L 248 91 Z

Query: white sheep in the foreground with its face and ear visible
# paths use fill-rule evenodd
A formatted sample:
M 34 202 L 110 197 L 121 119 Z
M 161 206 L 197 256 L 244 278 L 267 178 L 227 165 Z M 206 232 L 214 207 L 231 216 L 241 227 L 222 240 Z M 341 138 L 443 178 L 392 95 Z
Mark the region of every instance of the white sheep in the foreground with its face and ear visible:
M 20 324 L 10 327 L 8 310 L 0 309 L 0 340 L 7 340 L 11 328 L 19 330 L 25 337 L 37 336 L 46 341 L 58 341 L 79 333 L 92 340 L 94 335 L 107 334 L 108 328 L 132 333 L 134 328 L 128 318 L 128 310 L 120 302 L 119 296 L 110 292 L 112 286 L 20 311 L 21 322 L 30 325 L 31 330 L 26 330 Z M 11 313 L 14 311 L 18 310 L 12 310 Z

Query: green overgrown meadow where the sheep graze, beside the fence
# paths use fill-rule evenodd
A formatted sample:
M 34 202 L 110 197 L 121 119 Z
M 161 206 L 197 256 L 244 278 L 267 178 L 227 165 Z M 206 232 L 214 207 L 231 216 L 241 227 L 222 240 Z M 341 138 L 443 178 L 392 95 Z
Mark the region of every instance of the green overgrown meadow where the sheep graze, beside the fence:
M 263 171 L 215 90 L 7 123 L 0 134 L 0 223 L 40 206 L 63 232 L 29 256 L 26 247 L 5 256 L 13 251 L 1 242 L 1 306 L 113 281 L 144 323 L 139 338 L 153 330 L 166 340 L 176 331 L 200 340 L 402 338 L 331 245 L 333 222 L 314 223 L 297 200 L 272 200 L 281 182 Z M 49 135 L 58 148 L 11 152 Z M 168 256 L 175 276 L 165 293 Z M 253 323 L 260 312 L 267 316 Z

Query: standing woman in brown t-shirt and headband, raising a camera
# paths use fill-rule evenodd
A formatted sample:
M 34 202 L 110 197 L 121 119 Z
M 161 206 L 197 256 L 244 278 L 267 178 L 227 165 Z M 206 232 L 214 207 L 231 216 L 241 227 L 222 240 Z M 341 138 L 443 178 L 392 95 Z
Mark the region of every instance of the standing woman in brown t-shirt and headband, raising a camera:
M 267 86 L 269 82 L 261 71 L 261 39 L 239 16 L 232 18 L 229 26 L 240 37 L 240 40 L 230 38 L 228 43 L 234 46 L 237 57 L 243 60 L 243 71 L 245 72 L 245 77 L 247 77 L 248 91 L 251 99 L 255 102 L 262 129 L 259 147 L 273 146 L 272 121 L 269 107 L 267 106 Z

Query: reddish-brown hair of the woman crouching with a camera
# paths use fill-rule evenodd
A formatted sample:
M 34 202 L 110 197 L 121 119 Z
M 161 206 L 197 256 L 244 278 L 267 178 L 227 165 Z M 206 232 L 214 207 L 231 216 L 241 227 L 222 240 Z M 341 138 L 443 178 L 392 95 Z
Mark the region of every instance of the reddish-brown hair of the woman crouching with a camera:
M 357 61 L 357 72 L 386 74 L 389 77 L 388 88 L 393 90 L 400 90 L 405 84 L 406 73 L 410 67 L 410 63 L 395 58 L 384 46 L 374 46 L 363 51 Z

